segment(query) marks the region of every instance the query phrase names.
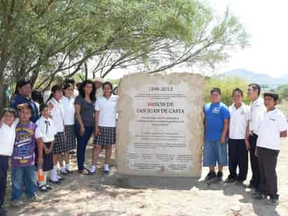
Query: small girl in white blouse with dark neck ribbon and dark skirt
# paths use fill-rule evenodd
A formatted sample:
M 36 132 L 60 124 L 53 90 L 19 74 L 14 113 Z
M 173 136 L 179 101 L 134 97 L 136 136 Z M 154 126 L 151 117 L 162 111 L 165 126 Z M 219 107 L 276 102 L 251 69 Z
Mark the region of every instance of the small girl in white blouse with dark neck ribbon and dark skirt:
M 55 135 L 57 134 L 55 125 L 50 119 L 50 109 L 47 104 L 40 105 L 41 117 L 36 122 L 37 128 L 35 138 L 37 142 L 36 163 L 38 165 L 38 172 L 43 172 L 43 180 L 38 178 L 39 190 L 47 192 L 52 189 L 46 184 L 47 173 L 53 169 L 52 150 L 55 143 Z M 55 175 L 55 173 L 52 173 Z M 57 178 L 52 176 L 52 179 Z

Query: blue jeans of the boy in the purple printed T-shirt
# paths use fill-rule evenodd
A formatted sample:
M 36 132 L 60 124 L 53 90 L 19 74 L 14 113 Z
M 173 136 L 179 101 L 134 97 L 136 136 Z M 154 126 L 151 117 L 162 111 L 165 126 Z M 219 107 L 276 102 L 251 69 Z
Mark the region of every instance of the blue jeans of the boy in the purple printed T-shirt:
M 29 199 L 35 196 L 37 191 L 35 166 L 12 167 L 11 180 L 11 201 L 21 199 L 23 192 L 23 182 L 25 183 L 25 194 L 27 198 Z

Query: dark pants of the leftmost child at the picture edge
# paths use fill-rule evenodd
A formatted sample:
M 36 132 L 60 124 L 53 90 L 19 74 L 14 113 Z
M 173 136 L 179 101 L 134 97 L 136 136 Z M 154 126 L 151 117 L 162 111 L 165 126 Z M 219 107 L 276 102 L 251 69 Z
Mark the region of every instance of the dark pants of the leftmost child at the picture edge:
M 0 155 L 0 208 L 4 203 L 6 195 L 7 171 L 8 171 L 8 156 Z

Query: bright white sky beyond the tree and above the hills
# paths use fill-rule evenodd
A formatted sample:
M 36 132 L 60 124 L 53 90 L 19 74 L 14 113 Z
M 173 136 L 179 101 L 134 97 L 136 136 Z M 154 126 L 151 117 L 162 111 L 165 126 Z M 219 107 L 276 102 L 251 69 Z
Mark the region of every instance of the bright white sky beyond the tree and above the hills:
M 250 34 L 250 47 L 233 53 L 215 73 L 246 69 L 266 73 L 273 78 L 288 75 L 288 1 L 287 0 L 207 0 L 215 13 L 223 15 L 229 6 Z M 113 71 L 107 78 L 120 78 L 123 71 Z

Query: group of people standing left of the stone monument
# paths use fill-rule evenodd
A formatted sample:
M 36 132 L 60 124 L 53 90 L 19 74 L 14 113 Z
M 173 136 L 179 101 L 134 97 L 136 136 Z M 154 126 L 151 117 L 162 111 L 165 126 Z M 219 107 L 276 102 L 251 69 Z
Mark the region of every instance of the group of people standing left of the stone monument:
M 105 150 L 103 172 L 110 171 L 116 135 L 116 95 L 113 85 L 100 79 L 85 80 L 77 89 L 73 79 L 54 85 L 42 94 L 32 91 L 29 80 L 17 82 L 10 107 L 0 122 L 0 215 L 6 196 L 8 159 L 11 158 L 11 206 L 41 201 L 37 190 L 53 189 L 63 175 L 72 173 L 69 153 L 77 148 L 78 172 L 94 174 L 101 150 Z M 45 95 L 46 93 L 46 95 Z M 85 167 L 85 150 L 94 134 L 91 168 Z M 58 166 L 59 164 L 59 166 Z M 99 170 L 100 171 L 100 170 Z

